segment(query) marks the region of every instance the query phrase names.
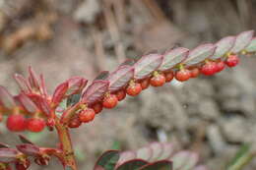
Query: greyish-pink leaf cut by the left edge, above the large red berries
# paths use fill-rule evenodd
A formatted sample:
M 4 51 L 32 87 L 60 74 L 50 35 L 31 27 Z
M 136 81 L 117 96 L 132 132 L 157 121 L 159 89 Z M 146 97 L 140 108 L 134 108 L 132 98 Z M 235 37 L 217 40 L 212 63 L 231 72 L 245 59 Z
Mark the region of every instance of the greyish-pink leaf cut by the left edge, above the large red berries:
M 8 109 L 12 109 L 16 105 L 13 96 L 2 85 L 0 85 L 0 101 L 3 104 L 3 106 Z

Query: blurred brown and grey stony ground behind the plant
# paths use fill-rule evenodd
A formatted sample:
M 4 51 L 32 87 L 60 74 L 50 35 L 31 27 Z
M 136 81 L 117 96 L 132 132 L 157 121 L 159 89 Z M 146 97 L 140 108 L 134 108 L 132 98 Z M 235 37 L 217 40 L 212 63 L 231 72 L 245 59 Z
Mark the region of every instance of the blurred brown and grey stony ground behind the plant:
M 17 92 L 12 75 L 27 76 L 30 65 L 44 74 L 49 91 L 72 76 L 92 81 L 127 57 L 255 30 L 255 19 L 256 0 L 0 0 L 0 85 Z M 151 87 L 103 111 L 72 130 L 79 166 L 91 169 L 106 149 L 167 141 L 199 152 L 210 169 L 224 169 L 244 142 L 256 148 L 255 63 L 255 56 L 244 57 L 235 69 Z M 26 135 L 41 145 L 57 142 L 54 132 Z M 18 142 L 3 124 L 0 139 Z M 246 167 L 253 169 L 255 161 Z

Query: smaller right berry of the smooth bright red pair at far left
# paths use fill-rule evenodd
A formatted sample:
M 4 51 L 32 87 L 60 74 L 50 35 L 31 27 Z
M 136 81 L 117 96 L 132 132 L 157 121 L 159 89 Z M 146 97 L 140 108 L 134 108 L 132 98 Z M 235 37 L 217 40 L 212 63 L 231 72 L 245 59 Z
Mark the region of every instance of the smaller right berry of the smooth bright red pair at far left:
M 41 132 L 45 127 L 45 121 L 42 118 L 30 118 L 27 122 L 27 129 L 33 133 Z

